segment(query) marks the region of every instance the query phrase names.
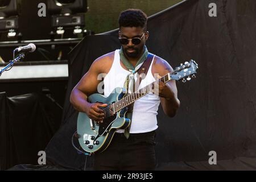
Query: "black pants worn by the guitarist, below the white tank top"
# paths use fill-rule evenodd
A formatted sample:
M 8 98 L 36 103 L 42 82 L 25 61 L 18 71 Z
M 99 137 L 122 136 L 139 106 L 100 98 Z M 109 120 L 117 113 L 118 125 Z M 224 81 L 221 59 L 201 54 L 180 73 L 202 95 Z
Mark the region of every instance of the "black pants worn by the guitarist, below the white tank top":
M 142 134 L 114 134 L 109 147 L 94 155 L 94 170 L 154 170 L 155 131 Z

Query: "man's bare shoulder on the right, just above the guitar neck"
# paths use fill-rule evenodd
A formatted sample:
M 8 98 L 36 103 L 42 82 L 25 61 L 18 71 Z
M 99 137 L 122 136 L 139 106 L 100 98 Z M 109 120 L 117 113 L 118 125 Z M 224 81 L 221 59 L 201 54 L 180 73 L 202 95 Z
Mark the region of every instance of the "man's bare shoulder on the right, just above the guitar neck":
M 155 56 L 154 63 L 152 65 L 152 73 L 163 76 L 172 71 L 174 71 L 174 69 L 172 69 L 171 65 L 166 60 L 159 56 Z

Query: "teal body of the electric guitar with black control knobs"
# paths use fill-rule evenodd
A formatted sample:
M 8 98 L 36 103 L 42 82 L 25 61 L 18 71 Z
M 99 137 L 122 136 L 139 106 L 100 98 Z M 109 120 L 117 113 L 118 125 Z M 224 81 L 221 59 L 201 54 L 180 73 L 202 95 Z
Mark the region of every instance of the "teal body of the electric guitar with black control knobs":
M 90 103 L 112 104 L 121 100 L 125 95 L 125 89 L 116 88 L 109 97 L 101 94 L 92 94 L 88 97 L 88 101 Z M 98 125 L 88 115 L 80 112 L 77 118 L 77 134 L 82 149 L 90 154 L 106 150 L 115 131 L 117 129 L 126 129 L 130 125 L 130 119 L 125 118 L 126 112 L 126 108 L 122 109 L 113 116 L 105 118 L 104 122 Z

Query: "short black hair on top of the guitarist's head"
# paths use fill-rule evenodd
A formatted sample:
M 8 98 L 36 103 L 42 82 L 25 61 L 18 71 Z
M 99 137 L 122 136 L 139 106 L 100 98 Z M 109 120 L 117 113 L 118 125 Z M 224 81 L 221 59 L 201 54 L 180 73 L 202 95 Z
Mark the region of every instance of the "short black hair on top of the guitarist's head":
M 122 11 L 119 16 L 119 28 L 121 27 L 142 27 L 147 29 L 147 15 L 139 9 L 128 9 Z

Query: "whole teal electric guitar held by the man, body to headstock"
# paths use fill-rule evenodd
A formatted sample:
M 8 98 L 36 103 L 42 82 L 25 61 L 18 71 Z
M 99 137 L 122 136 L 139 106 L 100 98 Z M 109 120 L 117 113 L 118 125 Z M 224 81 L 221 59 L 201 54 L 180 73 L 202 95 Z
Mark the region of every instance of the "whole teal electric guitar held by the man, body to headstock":
M 191 80 L 196 77 L 198 65 L 191 60 L 181 64 L 172 73 L 168 73 L 159 79 L 164 83 L 170 80 Z M 104 103 L 107 107 L 102 108 L 105 113 L 104 122 L 98 123 L 90 119 L 85 113 L 79 113 L 77 118 L 77 137 L 79 144 L 88 154 L 103 152 L 109 146 L 117 129 L 126 129 L 130 125 L 130 119 L 125 118 L 128 106 L 139 98 L 154 90 L 154 82 L 137 92 L 127 94 L 126 89 L 116 88 L 109 97 L 101 94 L 92 94 L 88 97 L 90 103 Z

